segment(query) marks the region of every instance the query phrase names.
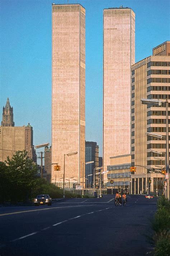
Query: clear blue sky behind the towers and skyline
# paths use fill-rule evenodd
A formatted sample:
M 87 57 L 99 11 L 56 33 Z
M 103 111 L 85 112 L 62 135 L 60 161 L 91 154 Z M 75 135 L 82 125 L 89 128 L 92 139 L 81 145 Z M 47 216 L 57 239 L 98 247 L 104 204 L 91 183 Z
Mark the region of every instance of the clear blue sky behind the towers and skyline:
M 67 0 L 1 0 L 0 116 L 9 97 L 15 126 L 33 126 L 34 145 L 51 143 L 51 3 Z M 86 9 L 86 140 L 102 156 L 103 9 L 136 13 L 136 61 L 170 40 L 169 0 L 84 0 Z M 1 118 L 0 118 L 1 120 Z

